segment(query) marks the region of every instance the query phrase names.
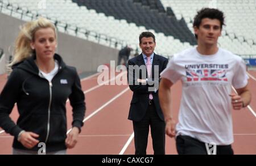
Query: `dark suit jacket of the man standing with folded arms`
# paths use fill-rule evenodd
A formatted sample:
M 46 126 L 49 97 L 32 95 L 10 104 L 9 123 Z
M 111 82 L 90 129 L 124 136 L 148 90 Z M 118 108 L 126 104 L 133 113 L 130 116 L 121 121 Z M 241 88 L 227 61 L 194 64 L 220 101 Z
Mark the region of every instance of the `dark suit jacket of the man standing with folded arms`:
M 153 100 L 155 104 L 155 109 L 156 112 L 161 120 L 164 120 L 162 110 L 160 108 L 159 104 L 159 97 L 158 97 L 158 88 L 154 92 L 148 91 L 148 87 L 154 86 L 156 83 L 158 83 L 159 87 L 159 82 L 160 82 L 160 73 L 166 68 L 168 63 L 168 59 L 164 58 L 162 56 L 159 56 L 154 53 L 154 58 L 152 61 L 152 69 L 151 69 L 151 78 L 148 78 L 146 74 L 146 78 L 148 79 L 147 84 L 142 84 L 137 82 L 137 79 L 146 79 L 143 76 L 142 71 L 139 70 L 139 75 L 135 75 L 135 70 L 131 70 L 131 66 L 138 65 L 139 67 L 146 67 L 144 59 L 142 54 L 140 54 L 137 57 L 131 58 L 128 61 L 128 67 L 127 67 L 127 78 L 130 80 L 129 82 L 129 87 L 131 91 L 133 91 L 133 99 L 131 100 L 130 104 L 130 111 L 129 111 L 129 120 L 132 121 L 141 121 L 144 115 L 146 114 L 146 110 L 148 107 L 148 102 L 149 102 L 149 94 L 152 93 L 153 95 Z M 144 66 L 143 66 L 144 65 Z M 154 71 L 154 66 L 158 65 L 159 66 L 159 71 L 158 71 L 158 78 L 154 78 L 154 74 L 157 71 Z M 130 71 L 129 71 L 130 69 Z M 152 82 L 154 82 L 154 85 L 151 85 Z

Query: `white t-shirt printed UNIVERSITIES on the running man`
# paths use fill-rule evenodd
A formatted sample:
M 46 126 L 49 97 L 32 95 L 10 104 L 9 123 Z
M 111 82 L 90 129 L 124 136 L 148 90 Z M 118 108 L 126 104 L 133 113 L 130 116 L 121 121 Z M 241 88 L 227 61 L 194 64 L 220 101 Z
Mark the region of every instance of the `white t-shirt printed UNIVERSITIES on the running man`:
M 177 135 L 205 143 L 233 142 L 231 86 L 242 88 L 248 76 L 243 59 L 227 50 L 201 55 L 196 48 L 175 54 L 160 74 L 172 83 L 181 80 L 182 97 Z

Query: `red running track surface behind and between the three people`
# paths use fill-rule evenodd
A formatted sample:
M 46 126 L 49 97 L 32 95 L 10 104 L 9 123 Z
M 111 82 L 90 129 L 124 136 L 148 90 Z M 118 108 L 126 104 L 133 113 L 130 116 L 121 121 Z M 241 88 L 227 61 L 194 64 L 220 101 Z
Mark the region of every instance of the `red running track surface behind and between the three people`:
M 256 71 L 249 71 L 256 77 Z M 123 76 L 126 78 L 126 75 Z M 6 83 L 6 75 L 0 75 L 0 91 Z M 98 86 L 97 76 L 82 81 L 82 90 Z M 249 88 L 252 94 L 251 108 L 256 111 L 256 81 L 249 79 Z M 121 95 L 120 93 L 123 92 Z M 118 97 L 115 97 L 119 95 Z M 85 93 L 86 117 L 98 112 L 85 121 L 79 142 L 76 147 L 68 150 L 68 154 L 119 154 L 133 133 L 132 122 L 127 120 L 132 92 L 127 86 L 100 86 Z M 113 99 L 113 97 L 115 97 Z M 181 97 L 181 83 L 172 87 L 172 110 L 177 120 Z M 102 107 L 104 105 L 104 107 Z M 101 108 L 102 109 L 99 109 Z M 14 108 L 11 117 L 16 120 L 18 112 Z M 72 108 L 67 103 L 68 129 L 71 127 Z M 256 117 L 248 108 L 233 110 L 235 154 L 256 154 Z M 0 129 L 1 132 L 1 129 Z M 166 154 L 177 154 L 175 140 L 166 137 Z M 9 134 L 0 134 L 0 154 L 11 154 L 13 137 Z M 134 154 L 132 140 L 123 154 Z M 148 137 L 147 154 L 153 154 L 151 135 Z

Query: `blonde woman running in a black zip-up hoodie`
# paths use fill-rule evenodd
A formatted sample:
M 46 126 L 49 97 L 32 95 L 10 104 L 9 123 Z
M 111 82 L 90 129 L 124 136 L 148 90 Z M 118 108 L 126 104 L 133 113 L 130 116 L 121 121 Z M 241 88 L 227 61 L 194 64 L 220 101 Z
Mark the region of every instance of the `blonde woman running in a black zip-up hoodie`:
M 24 24 L 16 39 L 12 72 L 0 95 L 0 126 L 14 136 L 13 154 L 66 154 L 75 147 L 85 96 L 76 69 L 65 65 L 56 47 L 56 28 L 45 18 Z M 68 135 L 67 99 L 73 107 Z M 15 103 L 16 124 L 9 116 Z

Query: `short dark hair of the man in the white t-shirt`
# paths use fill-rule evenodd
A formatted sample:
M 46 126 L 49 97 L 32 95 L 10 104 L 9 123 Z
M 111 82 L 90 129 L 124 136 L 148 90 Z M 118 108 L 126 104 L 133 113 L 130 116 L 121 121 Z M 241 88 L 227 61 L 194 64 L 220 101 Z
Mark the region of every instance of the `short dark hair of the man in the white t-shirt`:
M 220 20 L 221 23 L 221 29 L 222 25 L 225 25 L 224 23 L 224 14 L 222 11 L 218 10 L 217 8 L 202 8 L 200 11 L 197 11 L 197 15 L 194 18 L 193 27 L 200 27 L 200 24 L 202 22 L 202 19 L 209 18 L 209 19 L 217 19 Z M 197 39 L 197 35 L 196 39 Z

